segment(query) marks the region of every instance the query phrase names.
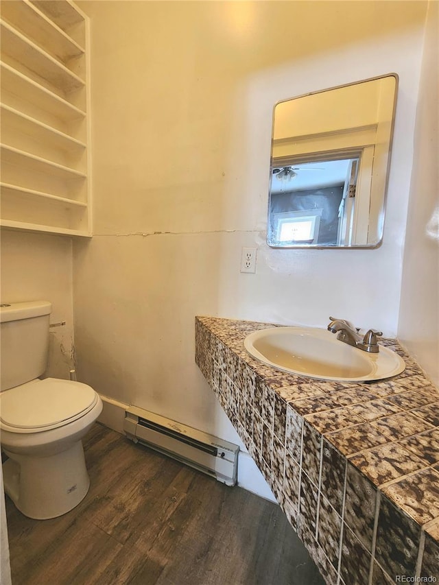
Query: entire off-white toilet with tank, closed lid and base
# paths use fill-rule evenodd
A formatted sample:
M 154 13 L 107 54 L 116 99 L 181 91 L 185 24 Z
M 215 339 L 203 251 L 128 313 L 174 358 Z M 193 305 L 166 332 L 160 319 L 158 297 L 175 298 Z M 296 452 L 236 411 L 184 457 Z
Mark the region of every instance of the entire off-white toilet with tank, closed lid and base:
M 0 442 L 5 492 L 25 516 L 56 518 L 90 486 L 82 438 L 102 411 L 92 387 L 39 379 L 47 368 L 47 301 L 1 305 Z

